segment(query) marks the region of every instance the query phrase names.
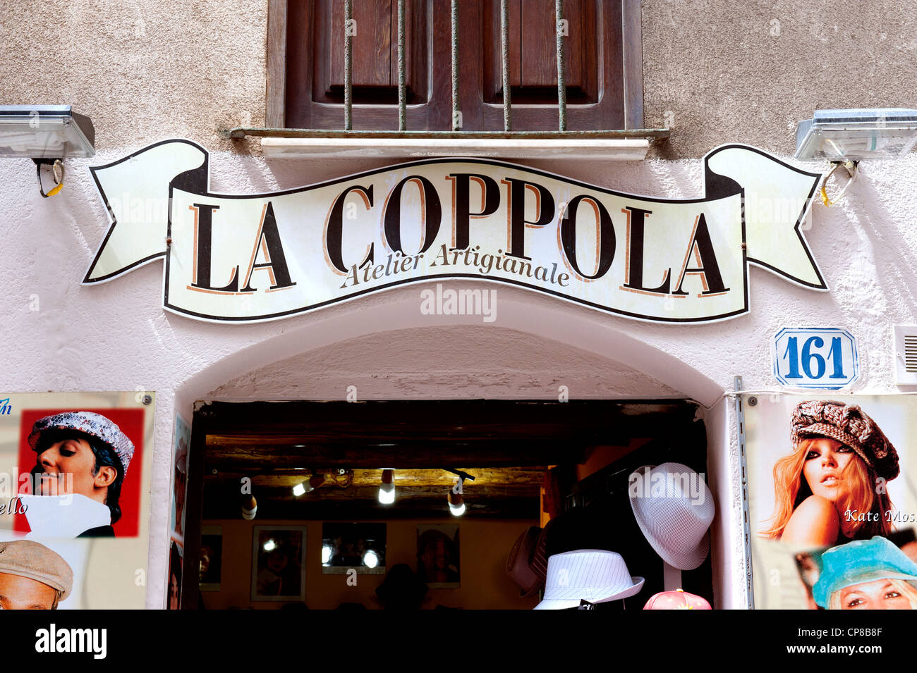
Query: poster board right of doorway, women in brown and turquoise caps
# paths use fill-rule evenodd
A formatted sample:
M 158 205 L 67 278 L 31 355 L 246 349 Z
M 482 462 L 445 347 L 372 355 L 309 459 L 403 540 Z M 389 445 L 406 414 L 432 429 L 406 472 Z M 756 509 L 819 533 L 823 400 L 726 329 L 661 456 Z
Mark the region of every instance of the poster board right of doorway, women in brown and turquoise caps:
M 917 397 L 745 398 L 758 609 L 917 609 Z

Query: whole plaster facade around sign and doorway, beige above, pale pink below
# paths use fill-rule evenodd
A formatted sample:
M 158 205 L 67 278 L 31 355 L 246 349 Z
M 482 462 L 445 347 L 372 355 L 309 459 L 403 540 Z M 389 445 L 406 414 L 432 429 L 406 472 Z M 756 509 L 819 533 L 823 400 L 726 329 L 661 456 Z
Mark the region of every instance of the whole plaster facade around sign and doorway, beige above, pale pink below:
M 911 58 L 917 38 L 909 17 L 907 25 L 896 23 L 905 20 L 906 7 L 822 5 L 817 11 L 803 3 L 744 5 L 743 18 L 735 19 L 737 10 L 724 0 L 645 0 L 646 123 L 657 125 L 672 110 L 669 151 L 690 158 L 530 165 L 615 190 L 692 198 L 702 194 L 702 164 L 694 157 L 721 142 L 790 155 L 790 122 L 817 107 L 909 103 L 902 82 L 911 79 L 900 62 Z M 779 36 L 769 34 L 771 15 L 780 21 Z M 486 324 L 473 316 L 422 316 L 414 287 L 289 320 L 215 325 L 161 309 L 160 263 L 80 286 L 108 226 L 89 165 L 170 136 L 213 152 L 218 191 L 276 190 L 383 165 L 268 164 L 257 148 L 219 139 L 218 126 L 263 123 L 265 16 L 263 3 L 240 16 L 238 7 L 215 0 L 193 8 L 100 0 L 13 4 L 0 26 L 3 102 L 72 103 L 93 117 L 98 148 L 91 160 L 67 161 L 64 189 L 47 200 L 39 197 L 30 161 L 0 160 L 0 386 L 157 391 L 148 606 L 162 605 L 176 411 L 189 416 L 193 400 L 214 391 L 339 399 L 354 381 L 364 398 L 553 399 L 558 385 L 568 385 L 573 397 L 674 394 L 712 407 L 710 469 L 727 547 L 719 569 L 724 604 L 742 604 L 744 569 L 730 564 L 743 553 L 735 419 L 721 396 L 735 374 L 749 389 L 776 387 L 769 343 L 780 328 L 800 325 L 845 327 L 856 335 L 861 374 L 853 392 L 896 390 L 890 328 L 917 322 L 911 226 L 917 157 L 863 164 L 842 203 L 815 207 L 806 235 L 830 292 L 753 268 L 751 313 L 717 324 L 641 323 L 497 286 L 497 320 Z M 673 25 L 666 24 L 669 16 Z M 850 51 L 850 44 L 862 49 Z M 813 77 L 812 64 L 823 62 L 827 67 Z M 278 361 L 286 362 L 272 365 Z M 298 381 L 291 367 L 302 368 Z

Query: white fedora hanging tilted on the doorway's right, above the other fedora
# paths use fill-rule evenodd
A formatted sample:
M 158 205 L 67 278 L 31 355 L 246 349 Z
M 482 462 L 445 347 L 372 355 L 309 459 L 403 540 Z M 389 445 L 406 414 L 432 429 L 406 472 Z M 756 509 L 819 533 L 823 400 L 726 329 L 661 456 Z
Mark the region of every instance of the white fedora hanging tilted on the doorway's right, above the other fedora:
M 646 541 L 668 565 L 694 570 L 703 563 L 716 505 L 701 474 L 680 462 L 644 465 L 631 473 L 627 494 Z

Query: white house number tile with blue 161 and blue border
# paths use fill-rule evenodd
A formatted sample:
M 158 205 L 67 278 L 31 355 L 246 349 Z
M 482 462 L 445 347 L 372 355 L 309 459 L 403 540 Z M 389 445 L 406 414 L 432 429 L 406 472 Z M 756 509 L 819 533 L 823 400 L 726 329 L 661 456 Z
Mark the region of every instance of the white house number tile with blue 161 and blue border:
M 834 327 L 784 328 L 774 337 L 773 355 L 783 385 L 837 390 L 859 376 L 856 339 Z

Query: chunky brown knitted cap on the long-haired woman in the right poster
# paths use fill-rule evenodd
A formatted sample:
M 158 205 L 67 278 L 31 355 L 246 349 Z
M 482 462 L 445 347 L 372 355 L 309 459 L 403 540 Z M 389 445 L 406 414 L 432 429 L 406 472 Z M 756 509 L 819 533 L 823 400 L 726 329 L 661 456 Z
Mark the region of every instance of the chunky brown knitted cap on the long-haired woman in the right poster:
M 808 400 L 793 409 L 790 437 L 793 446 L 807 437 L 827 437 L 846 444 L 885 479 L 898 476 L 898 451 L 857 405 Z

